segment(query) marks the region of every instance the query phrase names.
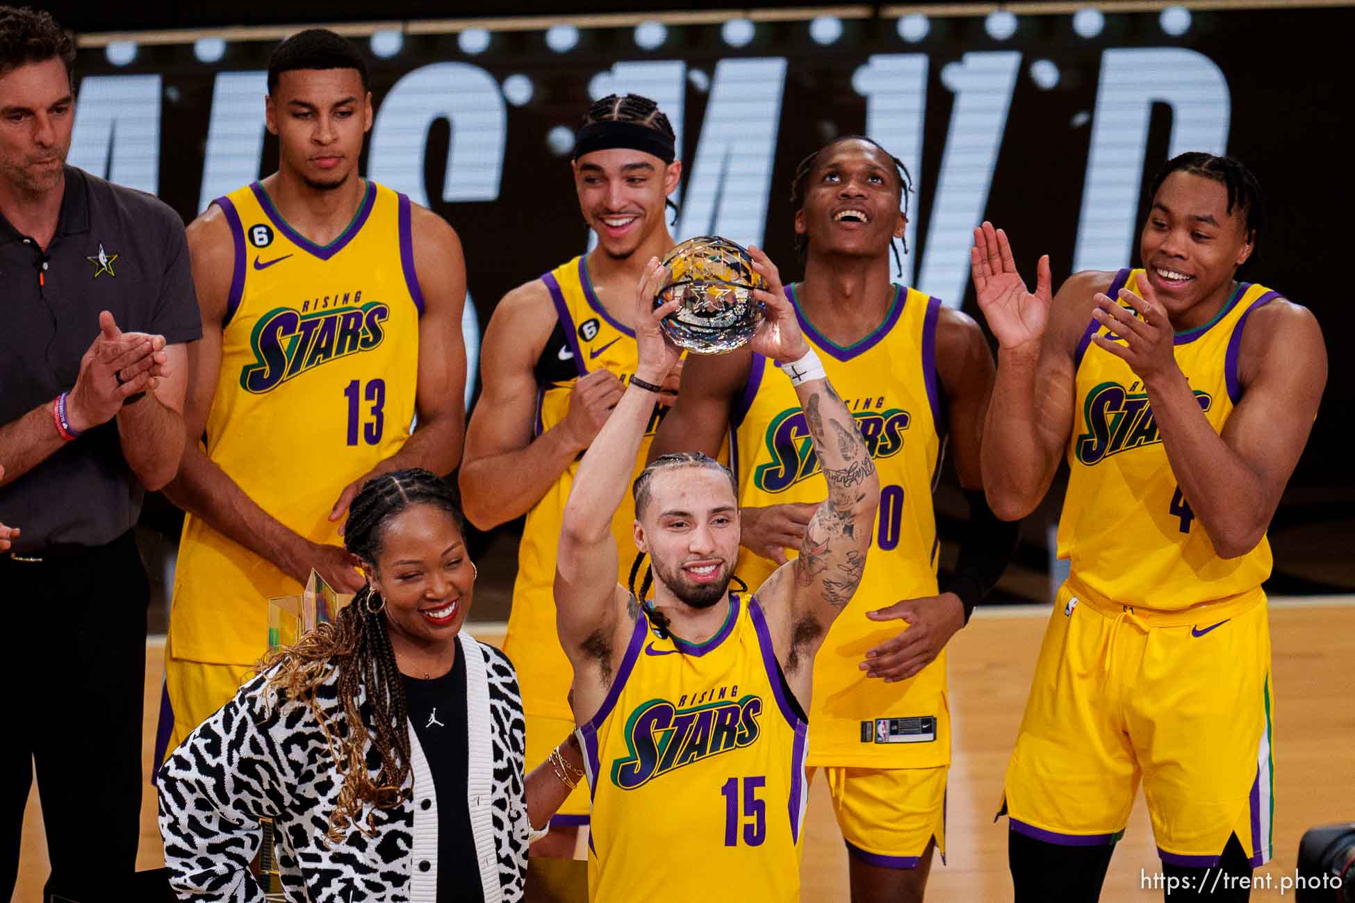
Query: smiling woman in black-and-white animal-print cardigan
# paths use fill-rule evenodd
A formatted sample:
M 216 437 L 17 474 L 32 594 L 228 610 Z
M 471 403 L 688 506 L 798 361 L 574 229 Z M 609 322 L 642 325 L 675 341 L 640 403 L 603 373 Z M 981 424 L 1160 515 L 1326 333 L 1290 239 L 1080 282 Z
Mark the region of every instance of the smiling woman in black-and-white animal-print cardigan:
M 172 883 L 195 899 L 249 887 L 270 818 L 297 896 L 347 866 L 382 899 L 520 899 L 528 820 L 583 759 L 562 745 L 523 777 L 512 665 L 461 630 L 476 566 L 451 489 L 427 470 L 370 479 L 344 544 L 367 575 L 352 602 L 260 662 L 161 768 Z

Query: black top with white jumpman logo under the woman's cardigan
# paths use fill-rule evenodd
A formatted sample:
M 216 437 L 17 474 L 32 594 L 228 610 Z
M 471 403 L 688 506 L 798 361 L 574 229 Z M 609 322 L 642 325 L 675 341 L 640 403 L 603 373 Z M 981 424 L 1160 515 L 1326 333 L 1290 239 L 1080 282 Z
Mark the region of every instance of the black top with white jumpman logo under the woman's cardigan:
M 438 792 L 438 903 L 484 900 L 476 838 L 466 801 L 466 662 L 457 648 L 451 670 L 431 681 L 401 674 L 409 722 Z M 415 800 L 427 808 L 430 800 Z M 416 866 L 417 868 L 417 866 Z

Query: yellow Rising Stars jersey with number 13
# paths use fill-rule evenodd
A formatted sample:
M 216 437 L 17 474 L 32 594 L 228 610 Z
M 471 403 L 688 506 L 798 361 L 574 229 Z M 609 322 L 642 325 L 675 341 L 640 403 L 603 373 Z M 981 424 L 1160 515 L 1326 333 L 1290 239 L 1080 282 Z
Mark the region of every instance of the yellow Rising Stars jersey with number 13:
M 214 200 L 234 276 L 205 451 L 268 514 L 341 546 L 339 493 L 409 437 L 423 294 L 409 199 L 373 181 L 341 236 L 297 233 L 259 183 Z M 252 663 L 268 598 L 301 592 L 272 563 L 188 514 L 175 569 L 175 655 Z

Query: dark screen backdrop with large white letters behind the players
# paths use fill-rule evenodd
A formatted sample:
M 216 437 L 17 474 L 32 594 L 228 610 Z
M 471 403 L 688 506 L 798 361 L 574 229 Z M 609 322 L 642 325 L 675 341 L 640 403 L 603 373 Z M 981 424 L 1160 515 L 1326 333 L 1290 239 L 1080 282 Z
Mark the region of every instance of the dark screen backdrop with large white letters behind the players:
M 974 314 L 976 222 L 1008 229 L 1031 279 L 1041 252 L 1056 279 L 1114 269 L 1137 263 L 1157 167 L 1183 150 L 1226 150 L 1270 198 L 1270 230 L 1243 276 L 1312 306 L 1333 352 L 1322 416 L 1276 528 L 1337 516 L 1352 495 L 1339 417 L 1355 394 L 1348 356 L 1336 353 L 1355 325 L 1333 261 L 1350 196 L 1336 144 L 1339 87 L 1350 83 L 1339 39 L 1355 14 L 888 12 L 383 28 L 355 38 L 375 104 L 363 172 L 458 229 L 474 343 L 507 290 L 587 248 L 570 133 L 608 92 L 657 99 L 678 129 L 676 236 L 764 244 L 791 275 L 795 164 L 835 135 L 870 134 L 916 184 L 904 279 Z M 154 192 L 186 219 L 271 172 L 263 70 L 275 42 L 84 46 L 72 162 Z

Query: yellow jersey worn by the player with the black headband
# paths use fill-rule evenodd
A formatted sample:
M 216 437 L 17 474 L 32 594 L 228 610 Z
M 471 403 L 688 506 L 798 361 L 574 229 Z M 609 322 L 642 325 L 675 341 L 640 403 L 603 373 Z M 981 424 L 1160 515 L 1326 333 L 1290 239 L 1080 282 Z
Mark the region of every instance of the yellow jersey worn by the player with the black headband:
M 557 334 L 546 343 L 542 361 L 537 366 L 538 436 L 569 413 L 569 393 L 580 376 L 604 368 L 627 379 L 635 372 L 638 360 L 635 333 L 614 320 L 598 299 L 588 280 L 585 257 L 575 257 L 556 267 L 541 280 L 550 290 L 560 325 Z M 654 405 L 635 459 L 635 477 L 644 470 L 649 443 L 667 410 Z M 575 718 L 566 699 L 573 671 L 557 634 L 554 582 L 560 524 L 577 470 L 576 460 L 527 512 L 522 544 L 518 547 L 518 578 L 512 589 L 508 635 L 504 639 L 504 653 L 518 667 L 523 711 L 569 720 Z M 634 506 L 630 493 L 626 493 L 611 521 L 619 565 L 617 579 L 622 583 L 630 575 L 630 565 L 635 558 L 634 520 Z

